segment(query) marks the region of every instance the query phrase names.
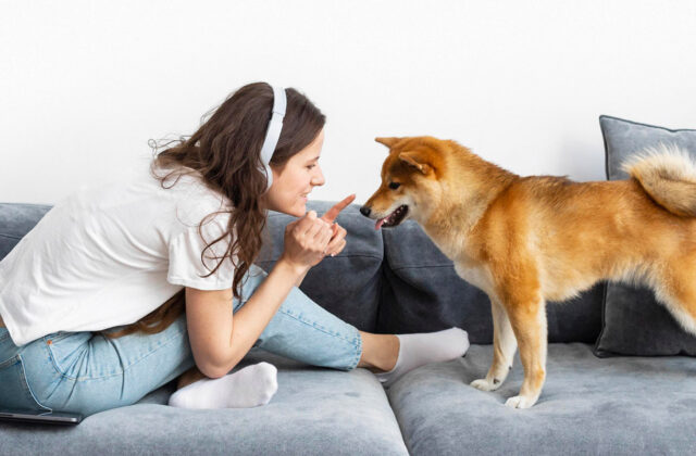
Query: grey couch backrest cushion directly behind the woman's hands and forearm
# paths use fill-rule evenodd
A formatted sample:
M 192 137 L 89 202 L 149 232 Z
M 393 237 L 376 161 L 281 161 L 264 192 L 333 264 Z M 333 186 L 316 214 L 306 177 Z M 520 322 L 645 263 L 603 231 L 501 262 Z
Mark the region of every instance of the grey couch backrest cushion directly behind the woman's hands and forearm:
M 321 216 L 333 204 L 310 201 L 307 208 Z M 334 257 L 325 257 L 311 268 L 300 289 L 343 320 L 360 330 L 374 331 L 382 292 L 384 245 L 374 223 L 360 215 L 359 207 L 352 204 L 338 216 L 337 223 L 348 231 L 344 251 Z M 264 243 L 257 261 L 266 271 L 283 253 L 285 226 L 295 219 L 285 214 L 270 214 L 268 232 L 272 242 Z

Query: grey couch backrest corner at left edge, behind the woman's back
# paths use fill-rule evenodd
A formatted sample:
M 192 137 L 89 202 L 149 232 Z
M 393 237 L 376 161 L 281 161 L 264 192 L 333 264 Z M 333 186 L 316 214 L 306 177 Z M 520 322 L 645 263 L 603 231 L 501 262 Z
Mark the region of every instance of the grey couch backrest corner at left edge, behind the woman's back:
M 50 208 L 46 204 L 0 203 L 0 259 L 14 249 Z

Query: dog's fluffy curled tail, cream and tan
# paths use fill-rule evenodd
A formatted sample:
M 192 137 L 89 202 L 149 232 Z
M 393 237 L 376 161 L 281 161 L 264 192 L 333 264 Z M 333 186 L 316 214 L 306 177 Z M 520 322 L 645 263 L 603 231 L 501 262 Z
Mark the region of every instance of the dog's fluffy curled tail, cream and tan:
M 624 163 L 622 168 L 672 214 L 696 217 L 696 163 L 686 151 L 660 143 Z

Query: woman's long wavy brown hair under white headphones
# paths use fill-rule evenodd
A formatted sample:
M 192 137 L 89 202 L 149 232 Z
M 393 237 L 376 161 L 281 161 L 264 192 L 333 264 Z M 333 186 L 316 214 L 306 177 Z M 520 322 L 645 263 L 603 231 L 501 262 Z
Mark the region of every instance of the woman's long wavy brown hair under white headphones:
M 324 114 L 297 90 L 287 88 L 285 94 L 287 107 L 283 129 L 271 159 L 274 167 L 282 167 L 293 155 L 309 145 L 326 122 Z M 246 85 L 214 110 L 191 137 L 173 141 L 178 143 L 160 153 L 156 149 L 150 163 L 150 174 L 160 180 L 162 188 L 172 188 L 183 175 L 196 174 L 211 190 L 224 194 L 232 202 L 232 210 L 207 215 L 198 229 L 200 233 L 201 225 L 209 217 L 223 212 L 229 213 L 226 232 L 207 244 L 200 255 L 206 265 L 203 253 L 211 245 L 233 241 L 228 242 L 222 257 L 213 257 L 220 262 L 203 277 L 214 274 L 224 261 L 233 262 L 235 275 L 231 288 L 237 299 L 240 297 L 241 279 L 261 250 L 261 236 L 265 227 L 266 214 L 259 206 L 259 198 L 266 189 L 265 174 L 260 170 L 263 168 L 260 151 L 272 106 L 271 86 L 265 83 Z M 160 176 L 157 174 L 160 168 L 173 170 Z M 164 182 L 173 176 L 176 177 L 174 183 L 165 187 Z M 232 239 L 232 232 L 236 232 L 235 239 Z M 234 257 L 237 257 L 237 263 L 233 261 Z M 102 333 L 109 338 L 120 338 L 136 331 L 151 334 L 163 331 L 184 313 L 184 290 L 140 320 L 116 332 Z

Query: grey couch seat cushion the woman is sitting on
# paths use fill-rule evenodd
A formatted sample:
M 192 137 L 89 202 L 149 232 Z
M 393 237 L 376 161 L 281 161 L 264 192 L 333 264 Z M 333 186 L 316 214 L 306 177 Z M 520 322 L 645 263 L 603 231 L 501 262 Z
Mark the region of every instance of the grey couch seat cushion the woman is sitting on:
M 0 454 L 408 454 L 384 389 L 370 371 L 310 367 L 259 349 L 239 368 L 259 360 L 278 368 L 278 391 L 268 405 L 170 407 L 170 382 L 136 405 L 92 415 L 76 427 L 0 421 Z

